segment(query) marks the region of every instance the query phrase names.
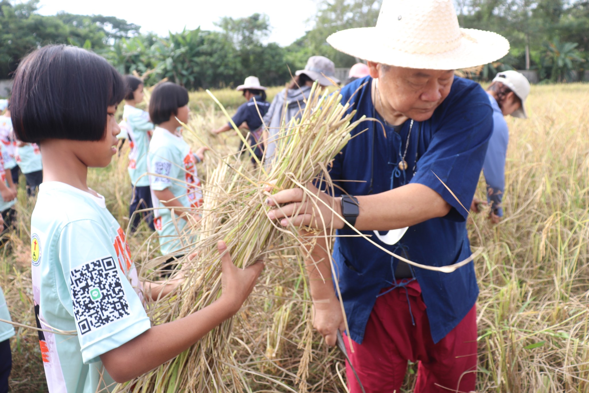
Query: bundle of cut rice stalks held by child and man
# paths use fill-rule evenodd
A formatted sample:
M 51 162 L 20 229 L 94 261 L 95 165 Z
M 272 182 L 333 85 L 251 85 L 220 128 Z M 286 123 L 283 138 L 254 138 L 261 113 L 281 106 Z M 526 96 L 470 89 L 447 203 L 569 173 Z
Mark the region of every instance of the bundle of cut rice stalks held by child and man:
M 296 229 L 277 227 L 268 217 L 264 189 L 282 190 L 306 184 L 326 174 L 330 161 L 348 143 L 354 113 L 341 95 L 329 94 L 314 85 L 300 119 L 283 124 L 277 140 L 272 169 L 251 169 L 245 160 L 220 158 L 203 188 L 204 212 L 199 223 L 199 254 L 188 263 L 178 295 L 151 303 L 154 323 L 182 318 L 214 302 L 221 290 L 218 240 L 224 240 L 234 263 L 248 266 L 286 243 L 296 243 Z M 231 164 L 229 161 L 233 161 Z M 271 183 L 271 181 L 273 181 Z M 301 249 L 301 247 L 297 247 Z M 184 267 L 186 270 L 186 266 Z M 190 349 L 148 374 L 120 385 L 117 392 L 250 391 L 239 365 L 227 349 L 233 319 L 217 326 Z M 282 385 L 274 380 L 273 383 Z

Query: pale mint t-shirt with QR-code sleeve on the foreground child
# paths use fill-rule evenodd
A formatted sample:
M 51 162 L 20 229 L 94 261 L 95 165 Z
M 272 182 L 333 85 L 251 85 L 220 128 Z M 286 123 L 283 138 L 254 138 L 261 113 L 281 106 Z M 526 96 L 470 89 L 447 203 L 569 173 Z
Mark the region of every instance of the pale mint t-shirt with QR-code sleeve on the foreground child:
M 31 216 L 35 316 L 50 393 L 111 391 L 100 355 L 150 329 L 123 230 L 103 197 L 50 181 Z M 103 390 L 102 390 L 103 389 Z

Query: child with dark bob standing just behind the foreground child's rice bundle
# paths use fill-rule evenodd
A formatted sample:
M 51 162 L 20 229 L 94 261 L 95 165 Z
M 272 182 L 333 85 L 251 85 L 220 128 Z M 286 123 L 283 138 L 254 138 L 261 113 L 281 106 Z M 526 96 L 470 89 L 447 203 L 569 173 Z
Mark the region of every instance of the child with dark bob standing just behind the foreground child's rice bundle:
M 203 194 L 196 164 L 204 159 L 205 147 L 193 154 L 181 134 L 181 124 L 188 122 L 188 91 L 172 82 L 158 85 L 149 104 L 151 121 L 157 124 L 149 145 L 149 167 L 155 230 L 163 255 L 171 262 L 184 254 L 179 236 L 190 217 L 200 219 L 194 207 L 202 204 Z M 177 118 L 177 119 L 176 119 Z M 160 175 L 160 176 L 157 176 Z M 174 215 L 174 217 L 173 217 Z M 178 232 L 179 231 L 179 232 Z

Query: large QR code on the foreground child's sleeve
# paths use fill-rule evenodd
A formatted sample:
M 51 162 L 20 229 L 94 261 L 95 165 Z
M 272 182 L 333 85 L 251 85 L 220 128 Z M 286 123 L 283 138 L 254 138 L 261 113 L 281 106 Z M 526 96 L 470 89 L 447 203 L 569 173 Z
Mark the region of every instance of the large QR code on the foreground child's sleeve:
M 130 315 L 117 264 L 110 256 L 72 269 L 70 286 L 81 335 Z

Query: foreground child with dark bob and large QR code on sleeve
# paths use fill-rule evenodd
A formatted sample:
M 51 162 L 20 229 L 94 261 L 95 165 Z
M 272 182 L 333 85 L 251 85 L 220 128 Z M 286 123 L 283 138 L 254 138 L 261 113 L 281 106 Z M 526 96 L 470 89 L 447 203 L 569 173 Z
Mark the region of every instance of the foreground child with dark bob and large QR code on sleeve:
M 175 285 L 143 288 L 123 230 L 87 184 L 88 168 L 108 166 L 117 153 L 115 110 L 124 96 L 118 72 L 78 47 L 37 49 L 15 73 L 14 131 L 43 151 L 44 182 L 31 217 L 31 274 L 50 393 L 112 391 L 115 381 L 174 358 L 239 310 L 262 269 L 261 263 L 238 269 L 224 253 L 220 298 L 151 326 L 142 289 L 157 298 Z M 219 252 L 225 250 L 220 242 Z

